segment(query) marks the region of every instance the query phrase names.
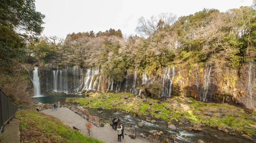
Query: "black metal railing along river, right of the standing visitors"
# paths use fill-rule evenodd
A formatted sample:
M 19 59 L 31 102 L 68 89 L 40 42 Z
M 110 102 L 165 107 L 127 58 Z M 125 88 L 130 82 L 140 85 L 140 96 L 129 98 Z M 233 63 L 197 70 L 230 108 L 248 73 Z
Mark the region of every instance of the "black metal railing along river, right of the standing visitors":
M 171 138 L 168 136 L 145 131 L 145 130 L 138 129 L 138 128 L 135 128 L 135 135 L 137 137 L 141 137 L 141 138 L 144 138 L 146 140 L 150 140 L 150 141 L 156 142 L 156 143 L 191 143 L 191 142 L 179 140 L 176 138 Z

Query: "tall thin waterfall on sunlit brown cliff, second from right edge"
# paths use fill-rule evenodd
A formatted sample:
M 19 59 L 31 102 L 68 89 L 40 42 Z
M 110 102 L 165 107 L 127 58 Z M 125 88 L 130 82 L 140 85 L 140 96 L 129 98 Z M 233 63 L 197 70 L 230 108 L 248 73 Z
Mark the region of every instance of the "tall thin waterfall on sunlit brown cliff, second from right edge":
M 211 76 L 211 70 L 212 70 L 212 65 L 205 65 L 205 70 L 204 70 L 204 92 L 203 92 L 203 101 L 207 101 L 207 93 L 208 93 L 208 89 L 211 85 L 210 82 L 210 76 Z M 211 97 L 210 97 L 211 98 Z

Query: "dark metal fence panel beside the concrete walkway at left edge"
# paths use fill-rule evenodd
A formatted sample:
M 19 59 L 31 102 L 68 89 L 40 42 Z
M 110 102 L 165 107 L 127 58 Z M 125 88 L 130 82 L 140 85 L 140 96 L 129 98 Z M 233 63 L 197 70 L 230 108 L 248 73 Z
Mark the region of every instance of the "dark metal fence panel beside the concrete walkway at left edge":
M 17 105 L 10 100 L 2 87 L 0 87 L 0 134 L 4 132 L 5 124 L 10 123 L 10 120 L 12 120 L 12 117 L 16 114 L 17 110 Z

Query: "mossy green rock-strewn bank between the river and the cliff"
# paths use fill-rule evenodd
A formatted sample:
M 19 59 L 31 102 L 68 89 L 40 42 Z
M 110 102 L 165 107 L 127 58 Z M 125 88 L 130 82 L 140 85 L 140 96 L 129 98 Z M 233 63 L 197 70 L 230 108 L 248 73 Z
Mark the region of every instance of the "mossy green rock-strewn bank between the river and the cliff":
M 90 98 L 67 98 L 66 102 L 75 102 L 89 108 L 102 109 L 121 109 L 135 115 L 152 114 L 154 117 L 164 119 L 166 121 L 181 120 L 186 117 L 190 123 L 202 122 L 204 125 L 217 125 L 218 127 L 230 126 L 236 131 L 248 131 L 252 135 L 256 135 L 256 130 L 247 129 L 244 126 L 254 126 L 256 121 L 245 119 L 246 112 L 239 107 L 227 104 L 202 103 L 192 98 L 174 97 L 161 103 L 152 99 L 138 99 L 130 93 L 94 93 Z M 128 99 L 125 97 L 128 96 Z M 88 104 L 88 101 L 92 101 Z M 152 105 L 151 105 L 152 104 Z M 147 108 L 152 107 L 150 112 Z M 161 112 L 155 112 L 161 110 Z M 212 116 L 204 115 L 213 112 Z M 254 111 L 252 113 L 256 115 Z M 180 123 L 182 124 L 182 123 Z

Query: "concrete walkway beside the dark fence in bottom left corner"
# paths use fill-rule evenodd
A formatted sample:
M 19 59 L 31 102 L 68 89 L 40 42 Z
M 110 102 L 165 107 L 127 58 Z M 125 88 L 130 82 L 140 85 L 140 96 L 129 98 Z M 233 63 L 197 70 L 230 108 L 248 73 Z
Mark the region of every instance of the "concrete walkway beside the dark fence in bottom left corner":
M 19 131 L 19 120 L 13 119 L 10 124 L 6 124 L 4 132 L 1 133 L 0 138 L 3 138 L 2 143 L 19 143 L 20 142 L 20 131 Z M 1 141 L 0 141 L 1 142 Z

